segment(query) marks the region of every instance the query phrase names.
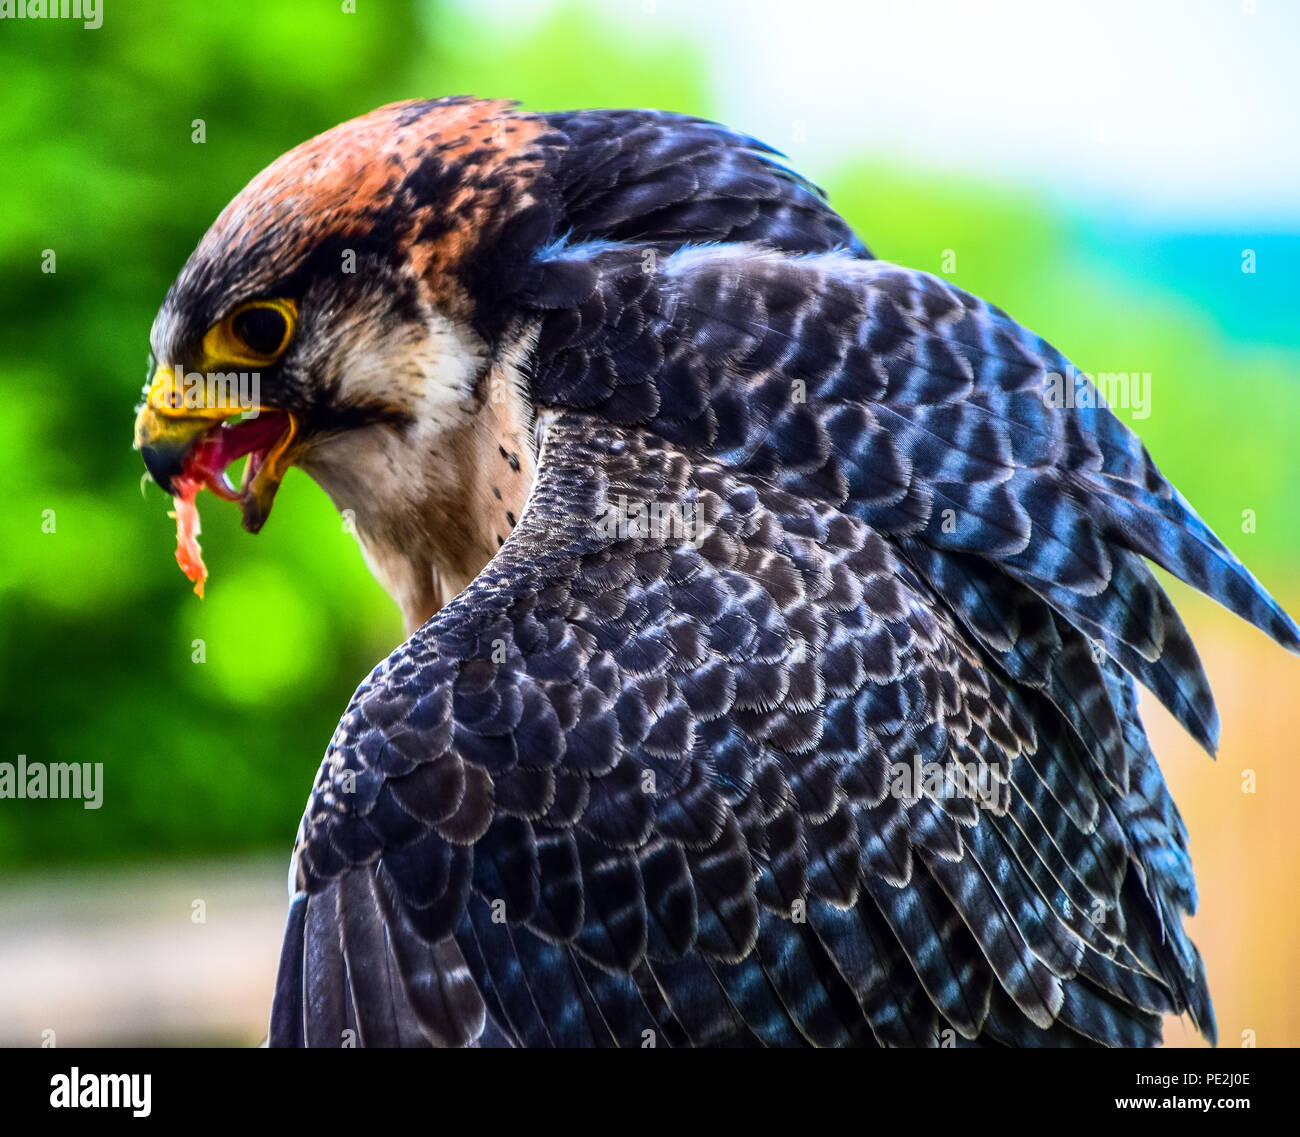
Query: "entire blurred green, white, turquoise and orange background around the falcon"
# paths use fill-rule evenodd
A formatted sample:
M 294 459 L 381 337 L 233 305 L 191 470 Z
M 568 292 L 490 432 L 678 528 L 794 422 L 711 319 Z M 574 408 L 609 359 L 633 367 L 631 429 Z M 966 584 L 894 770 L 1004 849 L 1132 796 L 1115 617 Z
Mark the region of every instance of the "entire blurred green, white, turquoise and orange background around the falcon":
M 0 1043 L 261 1038 L 307 791 L 400 639 L 302 473 L 256 539 L 204 508 L 202 602 L 169 502 L 140 487 L 150 325 L 260 168 L 413 96 L 724 120 L 878 256 L 1082 369 L 1149 373 L 1135 429 L 1295 613 L 1297 48 L 1283 0 L 103 0 L 95 30 L 0 21 L 0 761 L 104 764 L 99 810 L 0 800 Z M 1218 760 L 1145 715 L 1191 829 L 1221 1038 L 1297 1045 L 1300 661 L 1174 595 Z

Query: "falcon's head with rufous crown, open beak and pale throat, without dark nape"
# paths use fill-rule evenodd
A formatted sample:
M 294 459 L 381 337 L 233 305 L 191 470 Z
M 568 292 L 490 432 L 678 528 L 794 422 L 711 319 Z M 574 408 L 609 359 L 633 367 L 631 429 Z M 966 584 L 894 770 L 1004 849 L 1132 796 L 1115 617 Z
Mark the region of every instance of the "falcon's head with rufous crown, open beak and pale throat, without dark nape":
M 153 322 L 135 441 L 164 491 L 187 476 L 256 533 L 298 465 L 351 511 L 410 621 L 439 577 L 472 578 L 528 490 L 491 282 L 551 227 L 532 192 L 543 126 L 503 103 L 403 103 L 255 177 Z M 225 470 L 244 455 L 237 487 Z

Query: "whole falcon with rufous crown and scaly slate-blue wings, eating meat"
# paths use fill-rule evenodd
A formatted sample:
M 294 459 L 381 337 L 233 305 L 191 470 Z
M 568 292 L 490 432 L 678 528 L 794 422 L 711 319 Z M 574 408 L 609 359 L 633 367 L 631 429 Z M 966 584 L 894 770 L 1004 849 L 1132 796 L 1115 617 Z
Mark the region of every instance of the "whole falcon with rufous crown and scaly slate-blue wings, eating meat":
M 385 107 L 239 192 L 152 351 L 159 485 L 256 531 L 298 465 L 407 629 L 312 787 L 270 1045 L 1213 1038 L 1136 683 L 1218 721 L 1149 563 L 1300 633 L 1060 352 L 775 151 Z

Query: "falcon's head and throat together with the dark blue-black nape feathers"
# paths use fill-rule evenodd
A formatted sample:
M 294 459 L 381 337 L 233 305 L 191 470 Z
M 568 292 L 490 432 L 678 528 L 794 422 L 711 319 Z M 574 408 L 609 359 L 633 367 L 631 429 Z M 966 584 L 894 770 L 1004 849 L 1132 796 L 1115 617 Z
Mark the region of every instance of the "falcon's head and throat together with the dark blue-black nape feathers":
M 473 99 L 334 127 L 257 174 L 168 291 L 135 421 L 144 464 L 164 491 L 185 478 L 238 502 L 254 533 L 300 466 L 417 626 L 528 499 L 541 321 L 516 292 L 538 251 L 854 243 L 772 153 L 682 116 Z M 237 487 L 225 470 L 246 455 Z

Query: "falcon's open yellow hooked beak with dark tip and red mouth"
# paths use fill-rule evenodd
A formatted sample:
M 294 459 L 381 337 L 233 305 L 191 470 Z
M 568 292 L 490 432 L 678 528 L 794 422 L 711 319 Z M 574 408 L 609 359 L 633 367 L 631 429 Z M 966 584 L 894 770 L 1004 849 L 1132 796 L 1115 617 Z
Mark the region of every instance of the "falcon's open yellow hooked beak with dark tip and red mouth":
M 135 416 L 135 447 L 144 468 L 166 494 L 177 492 L 178 478 L 188 478 L 218 498 L 238 502 L 244 529 L 256 533 L 300 450 L 298 418 L 273 408 L 237 405 L 214 385 L 196 383 L 195 390 L 186 379 L 179 366 L 161 365 L 155 372 Z M 248 464 L 235 489 L 225 470 L 244 455 Z

